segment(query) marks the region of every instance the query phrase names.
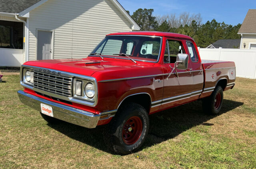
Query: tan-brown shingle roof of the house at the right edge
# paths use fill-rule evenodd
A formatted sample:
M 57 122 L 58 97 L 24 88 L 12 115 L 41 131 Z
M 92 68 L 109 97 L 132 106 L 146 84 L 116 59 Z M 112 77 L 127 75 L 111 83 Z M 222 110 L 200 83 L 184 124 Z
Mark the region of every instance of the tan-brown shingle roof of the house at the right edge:
M 256 33 L 256 9 L 248 10 L 238 33 Z

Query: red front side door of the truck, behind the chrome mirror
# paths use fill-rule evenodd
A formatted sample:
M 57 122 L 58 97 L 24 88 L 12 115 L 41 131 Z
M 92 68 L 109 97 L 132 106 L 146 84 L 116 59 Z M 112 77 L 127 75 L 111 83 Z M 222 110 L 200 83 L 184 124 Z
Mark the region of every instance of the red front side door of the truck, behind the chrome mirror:
M 166 41 L 164 64 L 162 66 L 164 72 L 164 94 L 160 109 L 184 104 L 191 100 L 190 93 L 193 90 L 193 74 L 190 61 L 188 62 L 188 69 L 176 69 L 178 77 L 175 70 L 170 75 L 179 53 L 186 53 L 182 41 L 168 39 Z M 167 79 L 169 75 L 170 77 Z

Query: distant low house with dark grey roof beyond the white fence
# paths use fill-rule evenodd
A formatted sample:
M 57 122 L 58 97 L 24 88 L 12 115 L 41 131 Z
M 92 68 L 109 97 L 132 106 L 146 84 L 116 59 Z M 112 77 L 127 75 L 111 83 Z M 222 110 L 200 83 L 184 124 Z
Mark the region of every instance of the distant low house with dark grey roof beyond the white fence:
M 234 49 L 239 48 L 241 39 L 220 39 L 212 44 L 210 44 L 206 48 L 228 48 L 228 49 Z

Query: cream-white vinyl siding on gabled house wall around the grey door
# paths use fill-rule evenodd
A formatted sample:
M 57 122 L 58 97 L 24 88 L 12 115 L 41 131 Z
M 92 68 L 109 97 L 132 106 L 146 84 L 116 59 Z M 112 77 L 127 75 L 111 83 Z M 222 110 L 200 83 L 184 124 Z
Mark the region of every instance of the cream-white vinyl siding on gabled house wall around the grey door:
M 131 27 L 111 0 L 49 0 L 30 12 L 29 60 L 38 29 L 54 31 L 53 58 L 62 59 L 86 57 L 106 34 Z

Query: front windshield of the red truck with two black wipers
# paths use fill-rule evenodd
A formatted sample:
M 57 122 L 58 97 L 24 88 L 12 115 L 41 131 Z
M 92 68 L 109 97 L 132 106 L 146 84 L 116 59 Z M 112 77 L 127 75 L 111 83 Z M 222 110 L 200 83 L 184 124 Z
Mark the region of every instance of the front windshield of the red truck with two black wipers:
M 89 56 L 114 57 L 137 61 L 158 61 L 161 38 L 153 36 L 108 36 Z M 118 56 L 116 56 L 118 55 Z

